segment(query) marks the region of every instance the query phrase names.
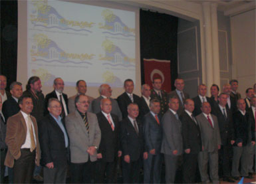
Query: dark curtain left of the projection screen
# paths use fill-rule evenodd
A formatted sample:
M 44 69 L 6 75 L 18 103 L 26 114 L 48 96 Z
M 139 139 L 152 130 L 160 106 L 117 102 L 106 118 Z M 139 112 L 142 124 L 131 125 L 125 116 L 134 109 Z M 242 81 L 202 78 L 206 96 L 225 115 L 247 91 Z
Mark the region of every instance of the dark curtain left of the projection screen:
M 1 74 L 7 76 L 7 88 L 17 78 L 17 0 L 1 2 Z

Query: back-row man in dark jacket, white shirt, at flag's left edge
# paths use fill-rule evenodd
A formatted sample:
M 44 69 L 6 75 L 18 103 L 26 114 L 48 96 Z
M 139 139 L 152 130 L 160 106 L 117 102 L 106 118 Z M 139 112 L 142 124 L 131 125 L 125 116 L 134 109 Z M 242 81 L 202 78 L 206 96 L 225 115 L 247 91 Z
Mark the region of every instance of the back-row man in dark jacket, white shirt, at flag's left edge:
M 141 118 L 143 118 L 148 112 L 150 112 L 150 85 L 143 84 L 142 85 L 142 96 L 140 97 L 140 114 Z

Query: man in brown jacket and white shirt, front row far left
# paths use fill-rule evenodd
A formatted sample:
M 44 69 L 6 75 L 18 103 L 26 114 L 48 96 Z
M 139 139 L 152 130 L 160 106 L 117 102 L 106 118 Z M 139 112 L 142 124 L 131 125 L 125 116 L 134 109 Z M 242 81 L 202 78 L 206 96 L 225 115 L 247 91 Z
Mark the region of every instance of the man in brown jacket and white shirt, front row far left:
M 31 96 L 21 96 L 19 107 L 21 111 L 7 121 L 5 165 L 13 167 L 14 183 L 31 183 L 35 163 L 39 165 L 40 161 L 37 121 L 30 115 L 33 110 Z

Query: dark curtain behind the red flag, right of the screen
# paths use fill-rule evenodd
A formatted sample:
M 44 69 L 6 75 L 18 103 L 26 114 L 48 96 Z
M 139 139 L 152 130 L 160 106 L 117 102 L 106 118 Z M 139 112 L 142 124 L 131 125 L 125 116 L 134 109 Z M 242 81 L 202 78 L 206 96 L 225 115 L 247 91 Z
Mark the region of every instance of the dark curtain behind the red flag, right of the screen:
M 144 58 L 171 60 L 171 80 L 178 76 L 177 65 L 178 18 L 172 15 L 140 9 L 140 68 L 144 84 Z

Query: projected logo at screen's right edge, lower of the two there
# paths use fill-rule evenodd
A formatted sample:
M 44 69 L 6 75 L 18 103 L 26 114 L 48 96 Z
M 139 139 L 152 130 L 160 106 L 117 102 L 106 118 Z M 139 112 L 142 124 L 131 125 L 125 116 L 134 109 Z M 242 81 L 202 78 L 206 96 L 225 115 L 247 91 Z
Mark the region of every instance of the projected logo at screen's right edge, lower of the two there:
M 105 55 L 100 54 L 100 60 L 110 61 L 110 63 L 104 63 L 104 65 L 111 66 L 135 66 L 135 58 L 130 58 L 122 52 L 122 50 L 114 45 L 112 41 L 106 39 L 102 43 L 102 47 L 105 50 Z

